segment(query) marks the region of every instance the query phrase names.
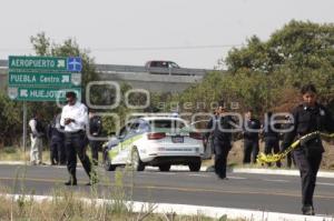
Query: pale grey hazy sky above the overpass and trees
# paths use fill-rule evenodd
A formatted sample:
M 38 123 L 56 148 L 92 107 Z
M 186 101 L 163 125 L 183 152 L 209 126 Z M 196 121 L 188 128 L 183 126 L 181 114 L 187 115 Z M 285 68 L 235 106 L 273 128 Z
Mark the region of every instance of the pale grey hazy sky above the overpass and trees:
M 332 0 L 1 0 L 0 59 L 35 54 L 30 37 L 76 39 L 97 63 L 171 60 L 213 69 L 233 47 L 292 19 L 334 22 Z

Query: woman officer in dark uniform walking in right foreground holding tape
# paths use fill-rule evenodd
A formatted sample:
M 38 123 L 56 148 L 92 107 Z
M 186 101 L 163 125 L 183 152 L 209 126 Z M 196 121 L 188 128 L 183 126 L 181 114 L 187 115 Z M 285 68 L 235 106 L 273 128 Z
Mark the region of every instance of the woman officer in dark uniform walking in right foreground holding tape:
M 293 111 L 293 130 L 284 135 L 282 150 L 287 149 L 295 137 L 301 138 L 314 131 L 334 131 L 331 113 L 325 107 L 316 102 L 315 87 L 306 84 L 301 92 L 303 103 Z M 323 152 L 324 148 L 318 135 L 301 141 L 301 145 L 293 152 L 302 178 L 303 214 L 314 215 L 313 193 Z

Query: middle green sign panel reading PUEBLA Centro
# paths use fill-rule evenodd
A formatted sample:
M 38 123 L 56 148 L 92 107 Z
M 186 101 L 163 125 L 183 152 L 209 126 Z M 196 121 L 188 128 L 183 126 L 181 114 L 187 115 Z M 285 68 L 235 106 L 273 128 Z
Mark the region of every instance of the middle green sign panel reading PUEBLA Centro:
M 31 87 L 71 87 L 81 84 L 81 73 L 46 73 L 46 72 L 13 72 L 9 71 L 9 87 L 31 86 Z

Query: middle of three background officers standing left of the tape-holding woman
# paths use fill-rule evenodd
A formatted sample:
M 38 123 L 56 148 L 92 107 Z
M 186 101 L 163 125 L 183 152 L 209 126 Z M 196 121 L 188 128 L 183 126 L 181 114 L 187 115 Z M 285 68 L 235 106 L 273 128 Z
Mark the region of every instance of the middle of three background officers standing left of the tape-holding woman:
M 273 151 L 274 153 L 279 152 L 279 132 L 278 130 L 281 129 L 279 123 L 275 123 L 274 119 L 272 118 L 273 113 L 267 112 L 265 122 L 264 122 L 264 128 L 263 128 L 263 137 L 264 137 L 264 142 L 265 142 L 265 154 L 272 154 Z M 271 165 L 271 163 L 268 163 Z M 276 162 L 276 167 L 281 168 L 282 163 L 281 161 Z

